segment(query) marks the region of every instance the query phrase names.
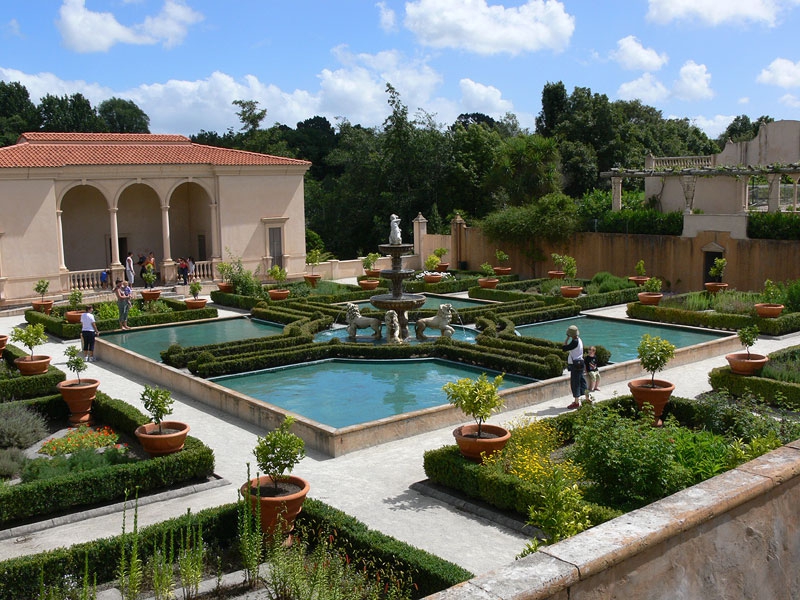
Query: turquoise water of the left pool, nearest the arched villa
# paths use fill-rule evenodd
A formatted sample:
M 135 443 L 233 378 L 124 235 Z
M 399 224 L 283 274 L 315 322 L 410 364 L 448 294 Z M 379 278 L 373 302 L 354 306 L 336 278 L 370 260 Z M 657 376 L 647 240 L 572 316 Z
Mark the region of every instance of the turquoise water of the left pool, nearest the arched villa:
M 241 317 L 188 325 L 132 329 L 124 333 L 103 333 L 100 339 L 160 362 L 161 351 L 172 344 L 204 346 L 281 333 L 283 325 Z

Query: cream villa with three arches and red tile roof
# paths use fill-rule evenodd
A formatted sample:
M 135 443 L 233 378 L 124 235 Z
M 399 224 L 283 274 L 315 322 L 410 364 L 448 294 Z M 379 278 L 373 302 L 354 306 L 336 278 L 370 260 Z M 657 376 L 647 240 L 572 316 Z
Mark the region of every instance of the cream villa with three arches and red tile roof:
M 153 252 L 161 283 L 188 256 L 207 279 L 229 255 L 300 274 L 310 166 L 181 135 L 25 133 L 0 148 L 0 305 L 39 279 L 56 295 L 98 287 L 128 252 Z

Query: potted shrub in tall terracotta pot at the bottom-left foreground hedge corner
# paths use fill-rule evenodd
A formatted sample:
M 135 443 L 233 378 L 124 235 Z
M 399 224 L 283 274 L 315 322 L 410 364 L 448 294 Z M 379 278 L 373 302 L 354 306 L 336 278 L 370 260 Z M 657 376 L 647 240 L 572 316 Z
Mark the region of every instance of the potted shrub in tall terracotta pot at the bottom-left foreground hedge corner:
M 310 488 L 305 479 L 289 475 L 306 455 L 305 442 L 290 431 L 294 422 L 287 415 L 277 429 L 259 436 L 253 455 L 260 474 L 239 490 L 253 513 L 260 511 L 261 530 L 267 534 L 292 530 Z

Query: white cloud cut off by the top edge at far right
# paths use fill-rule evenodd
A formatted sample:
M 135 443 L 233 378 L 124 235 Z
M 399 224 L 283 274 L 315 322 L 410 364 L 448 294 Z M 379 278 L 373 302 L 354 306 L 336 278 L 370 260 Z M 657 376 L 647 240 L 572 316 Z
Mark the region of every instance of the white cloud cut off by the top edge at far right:
M 769 27 L 797 0 L 649 0 L 647 18 L 659 24 L 695 21 L 706 25 L 752 22 Z

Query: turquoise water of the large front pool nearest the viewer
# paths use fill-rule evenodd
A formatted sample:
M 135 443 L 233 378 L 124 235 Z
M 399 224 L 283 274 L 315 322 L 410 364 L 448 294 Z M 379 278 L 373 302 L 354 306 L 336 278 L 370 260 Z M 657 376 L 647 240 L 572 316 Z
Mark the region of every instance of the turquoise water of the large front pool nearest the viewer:
M 486 372 L 440 359 L 332 359 L 212 381 L 330 427 L 347 427 L 447 404 L 445 383 Z M 532 383 L 506 375 L 502 388 Z

